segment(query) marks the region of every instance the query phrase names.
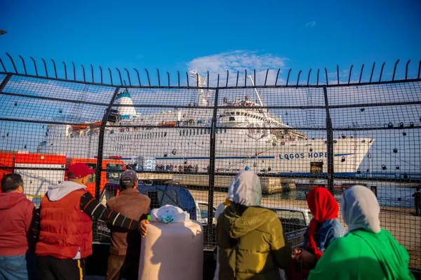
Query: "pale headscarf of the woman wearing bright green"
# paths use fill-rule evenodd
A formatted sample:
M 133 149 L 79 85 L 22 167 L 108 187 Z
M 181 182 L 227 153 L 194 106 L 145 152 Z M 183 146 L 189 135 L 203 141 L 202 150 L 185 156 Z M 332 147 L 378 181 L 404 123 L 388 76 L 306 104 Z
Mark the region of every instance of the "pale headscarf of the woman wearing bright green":
M 354 185 L 347 189 L 342 195 L 341 212 L 349 232 L 354 229 L 380 232 L 380 206 L 368 187 Z

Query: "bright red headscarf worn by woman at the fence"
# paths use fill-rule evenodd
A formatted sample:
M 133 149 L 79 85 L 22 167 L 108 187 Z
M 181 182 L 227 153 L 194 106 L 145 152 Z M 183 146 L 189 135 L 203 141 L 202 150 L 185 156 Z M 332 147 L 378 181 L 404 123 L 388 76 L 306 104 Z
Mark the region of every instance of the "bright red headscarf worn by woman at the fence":
M 317 225 L 326 220 L 338 218 L 339 206 L 333 195 L 324 187 L 315 187 L 307 194 L 307 204 L 312 211 L 313 219 L 309 227 L 309 247 L 312 248 L 317 260 L 321 258 L 321 252 L 314 241 Z

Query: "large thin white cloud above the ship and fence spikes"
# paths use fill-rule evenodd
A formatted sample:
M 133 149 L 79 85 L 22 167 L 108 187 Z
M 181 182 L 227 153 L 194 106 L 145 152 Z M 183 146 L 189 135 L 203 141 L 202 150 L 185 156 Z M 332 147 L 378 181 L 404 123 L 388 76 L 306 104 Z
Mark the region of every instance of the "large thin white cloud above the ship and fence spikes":
M 196 70 L 205 76 L 209 72 L 209 85 L 215 86 L 218 83 L 218 74 L 220 74 L 220 84 L 225 84 L 227 81 L 227 71 L 229 72 L 228 84 L 236 84 L 236 74 L 239 74 L 239 84 L 244 84 L 245 69 L 247 74 L 253 75 L 253 69 L 256 71 L 256 84 L 265 83 L 267 69 L 267 84 L 275 83 L 276 73 L 278 69 L 285 67 L 287 58 L 282 58 L 272 53 L 260 53 L 258 51 L 229 51 L 225 53 L 218 53 L 215 55 L 206 55 L 199 58 L 194 58 L 187 62 L 187 67 L 191 70 Z M 279 78 L 278 84 L 283 82 Z M 250 81 L 248 81 L 250 85 Z

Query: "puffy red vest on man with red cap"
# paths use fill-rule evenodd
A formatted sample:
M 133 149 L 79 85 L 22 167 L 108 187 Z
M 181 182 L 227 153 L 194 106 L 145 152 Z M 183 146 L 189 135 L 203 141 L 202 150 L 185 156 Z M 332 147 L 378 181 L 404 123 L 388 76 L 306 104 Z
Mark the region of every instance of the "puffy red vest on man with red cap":
M 58 201 L 50 201 L 44 196 L 36 255 L 73 259 L 78 251 L 80 258 L 92 254 L 92 220 L 80 207 L 81 196 L 85 192 L 78 189 Z

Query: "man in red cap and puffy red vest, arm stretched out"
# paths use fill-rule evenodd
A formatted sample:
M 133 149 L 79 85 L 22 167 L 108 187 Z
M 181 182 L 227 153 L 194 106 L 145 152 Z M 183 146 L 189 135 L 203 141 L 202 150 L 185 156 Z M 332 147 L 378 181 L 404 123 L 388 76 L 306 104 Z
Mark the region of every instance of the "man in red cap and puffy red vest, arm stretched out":
M 93 173 L 86 164 L 72 164 L 69 180 L 48 187 L 41 200 L 35 251 L 40 279 L 83 279 L 86 258 L 92 254 L 92 218 L 114 227 L 139 228 L 145 235 L 145 222 L 109 210 L 86 190 Z

